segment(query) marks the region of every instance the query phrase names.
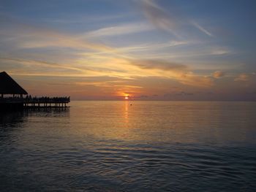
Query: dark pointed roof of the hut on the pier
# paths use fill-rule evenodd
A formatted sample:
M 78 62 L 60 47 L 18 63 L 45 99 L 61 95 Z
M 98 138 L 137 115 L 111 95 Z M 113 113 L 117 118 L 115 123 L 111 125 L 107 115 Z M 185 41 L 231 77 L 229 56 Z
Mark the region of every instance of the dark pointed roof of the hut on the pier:
M 0 72 L 0 94 L 28 94 L 6 72 Z

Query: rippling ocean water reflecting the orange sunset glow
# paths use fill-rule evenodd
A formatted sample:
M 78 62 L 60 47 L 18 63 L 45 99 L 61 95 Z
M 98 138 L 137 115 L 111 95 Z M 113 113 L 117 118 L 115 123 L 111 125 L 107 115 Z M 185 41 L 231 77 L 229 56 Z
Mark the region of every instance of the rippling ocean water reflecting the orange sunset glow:
M 256 102 L 70 106 L 0 115 L 0 191 L 256 190 Z

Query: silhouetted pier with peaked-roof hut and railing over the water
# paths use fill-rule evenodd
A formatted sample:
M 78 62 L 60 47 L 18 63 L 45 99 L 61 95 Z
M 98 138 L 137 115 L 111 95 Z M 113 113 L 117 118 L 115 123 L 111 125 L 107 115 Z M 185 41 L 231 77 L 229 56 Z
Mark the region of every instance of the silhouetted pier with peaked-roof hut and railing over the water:
M 0 73 L 0 110 L 22 110 L 24 108 L 67 107 L 69 97 L 31 97 L 6 72 Z M 24 97 L 23 95 L 26 95 Z

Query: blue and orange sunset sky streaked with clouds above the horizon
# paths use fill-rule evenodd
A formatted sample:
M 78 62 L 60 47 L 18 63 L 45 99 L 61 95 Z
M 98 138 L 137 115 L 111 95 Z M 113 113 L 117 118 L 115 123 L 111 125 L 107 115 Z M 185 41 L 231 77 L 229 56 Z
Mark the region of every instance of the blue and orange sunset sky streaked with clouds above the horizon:
M 32 96 L 256 101 L 255 19 L 255 0 L 0 0 L 0 71 Z

